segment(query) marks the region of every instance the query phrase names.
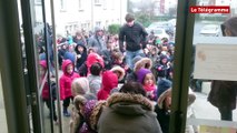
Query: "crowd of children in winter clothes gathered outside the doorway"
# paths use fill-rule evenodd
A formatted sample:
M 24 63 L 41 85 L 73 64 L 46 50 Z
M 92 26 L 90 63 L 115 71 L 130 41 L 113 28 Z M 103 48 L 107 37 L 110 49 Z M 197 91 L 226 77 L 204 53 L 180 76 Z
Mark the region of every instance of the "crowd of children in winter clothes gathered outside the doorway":
M 167 133 L 169 120 L 162 120 L 166 119 L 167 113 L 161 116 L 160 114 L 164 109 L 168 111 L 167 106 L 170 105 L 169 99 L 164 99 L 162 95 L 167 93 L 167 90 L 171 90 L 174 43 L 168 39 L 150 37 L 144 48 L 144 54 L 134 58 L 134 68 L 129 68 L 125 61 L 126 53 L 118 48 L 118 37 L 98 34 L 100 38 L 91 37 L 96 38 L 93 43 L 95 41 L 98 41 L 97 44 L 105 42 L 106 49 L 91 47 L 91 38 L 85 39 L 81 32 L 77 32 L 75 37 L 70 38 L 70 41 L 62 37 L 57 41 L 58 63 L 63 72 L 59 81 L 59 93 L 60 100 L 63 101 L 63 115 L 71 116 L 70 133 L 110 132 L 111 129 L 106 126 L 111 126 L 111 123 L 107 125 L 103 123 L 103 121 L 112 121 L 105 119 L 106 115 L 109 115 L 108 112 L 115 112 L 115 119 L 125 122 L 124 115 L 136 119 L 144 114 L 144 110 L 149 112 L 146 114 L 149 115 L 149 119 L 146 121 L 151 124 L 147 125 L 150 133 Z M 125 85 L 120 88 L 119 84 Z M 130 90 L 131 88 L 135 89 Z M 144 92 L 139 89 L 142 89 Z M 71 101 L 73 101 L 73 108 L 72 111 L 68 111 Z M 156 110 L 154 110 L 154 103 Z M 145 109 L 140 110 L 139 106 Z M 156 113 L 159 114 L 156 115 Z M 102 119 L 100 119 L 101 116 Z M 57 116 L 53 119 L 57 121 Z M 145 125 L 140 126 L 141 121 L 145 120 L 139 117 L 138 129 L 146 129 Z M 122 127 L 119 121 L 118 123 L 112 121 L 112 123 Z M 134 123 L 132 126 L 136 124 Z M 152 127 L 155 130 L 151 130 Z M 132 132 L 131 129 L 126 130 Z

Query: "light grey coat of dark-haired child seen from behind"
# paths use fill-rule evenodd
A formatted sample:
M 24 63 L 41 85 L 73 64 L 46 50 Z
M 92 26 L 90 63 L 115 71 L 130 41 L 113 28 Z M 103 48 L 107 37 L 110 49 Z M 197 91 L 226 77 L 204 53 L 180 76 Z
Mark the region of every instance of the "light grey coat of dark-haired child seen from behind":
M 102 79 L 100 75 L 88 75 L 90 93 L 97 95 L 101 89 Z

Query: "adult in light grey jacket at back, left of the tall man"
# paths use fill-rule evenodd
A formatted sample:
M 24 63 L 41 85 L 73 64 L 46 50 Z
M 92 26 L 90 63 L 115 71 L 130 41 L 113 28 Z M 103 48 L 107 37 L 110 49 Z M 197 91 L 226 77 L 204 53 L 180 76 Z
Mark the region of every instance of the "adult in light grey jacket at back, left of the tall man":
M 95 34 L 89 38 L 88 48 L 93 49 L 95 52 L 101 54 L 102 50 L 106 50 L 106 41 L 102 38 L 103 30 L 100 27 L 95 28 Z

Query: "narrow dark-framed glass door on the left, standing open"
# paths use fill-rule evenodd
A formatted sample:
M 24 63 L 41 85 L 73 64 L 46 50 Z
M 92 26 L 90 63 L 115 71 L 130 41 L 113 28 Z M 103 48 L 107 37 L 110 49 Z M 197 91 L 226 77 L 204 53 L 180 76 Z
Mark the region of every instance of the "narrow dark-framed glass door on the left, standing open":
M 32 116 L 32 130 L 39 133 L 58 132 L 56 129 L 61 124 L 56 108 L 58 89 L 53 63 L 50 1 L 21 0 L 20 2 L 26 45 L 24 80 L 29 84 L 29 115 Z

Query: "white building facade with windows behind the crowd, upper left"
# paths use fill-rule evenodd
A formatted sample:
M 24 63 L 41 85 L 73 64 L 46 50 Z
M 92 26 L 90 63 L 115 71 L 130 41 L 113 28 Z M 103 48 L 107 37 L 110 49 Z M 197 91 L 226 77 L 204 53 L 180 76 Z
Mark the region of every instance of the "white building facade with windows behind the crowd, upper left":
M 50 4 L 46 6 L 50 12 Z M 107 29 L 112 23 L 122 24 L 126 13 L 127 0 L 56 0 L 56 32 L 62 35 L 78 30 L 88 32 L 96 25 Z M 50 16 L 47 19 L 51 21 Z

